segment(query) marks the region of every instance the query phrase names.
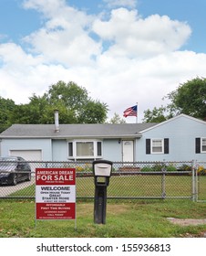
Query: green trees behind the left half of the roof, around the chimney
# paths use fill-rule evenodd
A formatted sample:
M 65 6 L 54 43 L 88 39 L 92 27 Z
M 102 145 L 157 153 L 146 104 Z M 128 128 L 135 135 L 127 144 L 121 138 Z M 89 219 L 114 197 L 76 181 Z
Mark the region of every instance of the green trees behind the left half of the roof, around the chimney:
M 54 110 L 59 123 L 104 123 L 108 105 L 88 97 L 88 91 L 70 81 L 58 81 L 43 96 L 33 94 L 26 104 L 15 105 L 0 98 L 0 132 L 13 123 L 54 123 Z

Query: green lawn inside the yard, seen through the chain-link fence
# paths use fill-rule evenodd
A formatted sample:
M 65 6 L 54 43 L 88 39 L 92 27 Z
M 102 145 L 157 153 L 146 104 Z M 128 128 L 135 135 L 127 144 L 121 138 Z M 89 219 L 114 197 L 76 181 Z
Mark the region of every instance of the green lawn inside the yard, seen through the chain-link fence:
M 206 176 L 201 177 L 201 197 L 206 198 Z M 77 177 L 77 197 L 94 197 L 94 178 Z M 108 197 L 191 197 L 191 176 L 112 176 L 108 186 Z M 35 197 L 35 185 L 26 187 L 11 197 Z

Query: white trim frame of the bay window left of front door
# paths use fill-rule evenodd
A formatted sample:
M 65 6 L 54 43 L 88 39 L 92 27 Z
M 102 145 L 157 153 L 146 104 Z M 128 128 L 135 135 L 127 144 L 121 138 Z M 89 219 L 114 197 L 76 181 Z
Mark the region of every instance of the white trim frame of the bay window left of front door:
M 72 143 L 73 156 L 68 155 L 68 143 Z M 94 155 L 77 155 L 77 143 L 93 143 Z M 101 143 L 101 155 L 98 155 L 98 143 Z M 103 142 L 101 140 L 69 140 L 67 141 L 67 158 L 68 159 L 99 159 L 103 155 Z

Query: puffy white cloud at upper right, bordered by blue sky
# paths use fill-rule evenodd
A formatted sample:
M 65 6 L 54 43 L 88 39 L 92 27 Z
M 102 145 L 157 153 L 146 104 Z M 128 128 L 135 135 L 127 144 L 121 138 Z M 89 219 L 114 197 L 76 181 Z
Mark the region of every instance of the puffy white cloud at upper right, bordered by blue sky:
M 139 17 L 137 10 L 115 9 L 107 21 L 97 19 L 94 31 L 111 41 L 115 56 L 151 57 L 179 49 L 191 36 L 191 27 L 168 16 Z

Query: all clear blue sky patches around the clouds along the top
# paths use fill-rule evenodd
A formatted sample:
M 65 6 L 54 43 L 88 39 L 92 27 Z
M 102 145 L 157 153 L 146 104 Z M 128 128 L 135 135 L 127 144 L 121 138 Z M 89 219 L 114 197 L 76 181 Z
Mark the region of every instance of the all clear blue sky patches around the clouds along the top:
M 5 40 L 20 42 L 21 37 L 41 27 L 43 23 L 44 18 L 41 14 L 32 9 L 24 9 L 23 3 L 23 0 L 0 1 L 0 34 L 5 35 Z M 98 14 L 102 10 L 109 9 L 107 2 L 103 1 L 67 0 L 67 3 L 86 11 L 88 14 Z M 143 17 L 159 14 L 187 22 L 192 29 L 192 35 L 183 48 L 205 52 L 205 0 L 139 0 L 136 3 L 139 14 Z

